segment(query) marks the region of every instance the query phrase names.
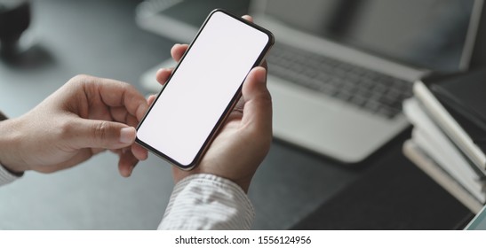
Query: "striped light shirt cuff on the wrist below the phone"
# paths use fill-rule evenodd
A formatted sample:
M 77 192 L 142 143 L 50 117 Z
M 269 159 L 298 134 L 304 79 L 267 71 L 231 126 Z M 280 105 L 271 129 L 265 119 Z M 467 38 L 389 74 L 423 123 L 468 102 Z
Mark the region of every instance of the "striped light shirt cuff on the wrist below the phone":
M 177 183 L 158 229 L 250 229 L 255 211 L 235 182 L 194 174 Z

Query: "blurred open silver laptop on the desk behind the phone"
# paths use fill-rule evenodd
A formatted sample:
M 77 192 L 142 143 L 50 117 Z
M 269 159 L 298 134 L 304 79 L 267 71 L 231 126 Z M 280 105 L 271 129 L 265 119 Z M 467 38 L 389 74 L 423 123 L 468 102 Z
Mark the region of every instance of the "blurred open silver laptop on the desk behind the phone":
M 190 42 L 199 26 L 178 16 L 203 1 L 172 2 L 138 23 Z M 413 81 L 467 69 L 482 2 L 251 0 L 248 12 L 276 40 L 267 57 L 274 136 L 345 164 L 368 158 L 409 127 L 402 101 Z

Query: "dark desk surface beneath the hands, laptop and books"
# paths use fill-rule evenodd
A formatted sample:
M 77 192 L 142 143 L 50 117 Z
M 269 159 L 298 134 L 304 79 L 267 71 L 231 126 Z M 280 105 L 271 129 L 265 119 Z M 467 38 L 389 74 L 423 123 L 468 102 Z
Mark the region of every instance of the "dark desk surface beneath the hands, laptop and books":
M 0 107 L 11 117 L 75 74 L 129 81 L 169 57 L 173 42 L 140 30 L 138 1 L 33 1 L 24 66 L 0 62 Z M 38 58 L 38 61 L 37 59 Z M 255 175 L 254 229 L 456 229 L 471 217 L 401 154 L 407 133 L 346 167 L 279 141 Z M 155 229 L 171 194 L 170 167 L 152 156 L 131 178 L 106 153 L 56 174 L 27 173 L 0 189 L 0 229 Z

